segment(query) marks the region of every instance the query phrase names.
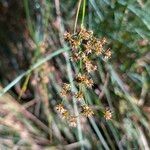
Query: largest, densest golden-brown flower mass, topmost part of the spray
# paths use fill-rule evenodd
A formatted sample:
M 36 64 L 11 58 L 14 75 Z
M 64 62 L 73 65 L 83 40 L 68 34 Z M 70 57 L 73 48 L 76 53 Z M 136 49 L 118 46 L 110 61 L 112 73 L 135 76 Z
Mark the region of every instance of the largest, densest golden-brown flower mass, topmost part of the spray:
M 88 31 L 85 28 L 81 28 L 81 30 L 75 34 L 67 32 L 64 37 L 72 48 L 71 60 L 75 62 L 82 60 L 84 71 L 88 73 L 97 69 L 93 61 L 94 58 L 100 55 L 105 59 L 111 57 L 111 51 L 104 49 L 106 38 L 96 38 L 92 31 Z

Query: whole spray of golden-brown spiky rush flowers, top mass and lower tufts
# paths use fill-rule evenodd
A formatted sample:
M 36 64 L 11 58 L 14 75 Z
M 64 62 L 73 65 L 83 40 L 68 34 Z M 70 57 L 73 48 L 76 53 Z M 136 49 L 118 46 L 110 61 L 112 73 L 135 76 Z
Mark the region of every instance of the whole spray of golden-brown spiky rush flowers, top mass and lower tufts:
M 94 115 L 94 112 L 88 104 L 85 103 L 82 89 L 92 88 L 94 84 L 94 81 L 90 77 L 90 73 L 97 70 L 97 65 L 94 60 L 100 55 L 104 59 L 108 59 L 111 56 L 111 52 L 109 49 L 105 50 L 104 48 L 104 45 L 106 44 L 105 38 L 96 38 L 92 31 L 88 31 L 85 28 L 81 28 L 80 31 L 75 34 L 67 32 L 65 33 L 64 38 L 69 43 L 72 50 L 71 60 L 75 62 L 79 68 L 79 71 L 74 78 L 74 82 L 78 87 L 78 92 L 74 93 L 73 96 L 81 104 L 80 115 L 91 117 Z M 71 86 L 70 84 L 64 83 L 60 94 L 64 97 L 69 93 L 71 93 Z M 56 109 L 71 126 L 75 127 L 77 125 L 77 116 L 70 115 L 62 104 L 57 105 Z

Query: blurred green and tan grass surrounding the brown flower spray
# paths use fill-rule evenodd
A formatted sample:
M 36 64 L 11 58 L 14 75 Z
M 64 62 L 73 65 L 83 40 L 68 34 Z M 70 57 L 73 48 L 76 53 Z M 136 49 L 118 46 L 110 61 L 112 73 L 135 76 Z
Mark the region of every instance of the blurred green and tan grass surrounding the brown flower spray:
M 72 128 L 55 110 L 73 78 L 63 34 L 74 30 L 78 3 L 0 1 L 0 149 L 150 149 L 149 0 L 86 0 L 84 26 L 108 39 L 112 57 L 97 60 L 86 92 L 93 118 Z

